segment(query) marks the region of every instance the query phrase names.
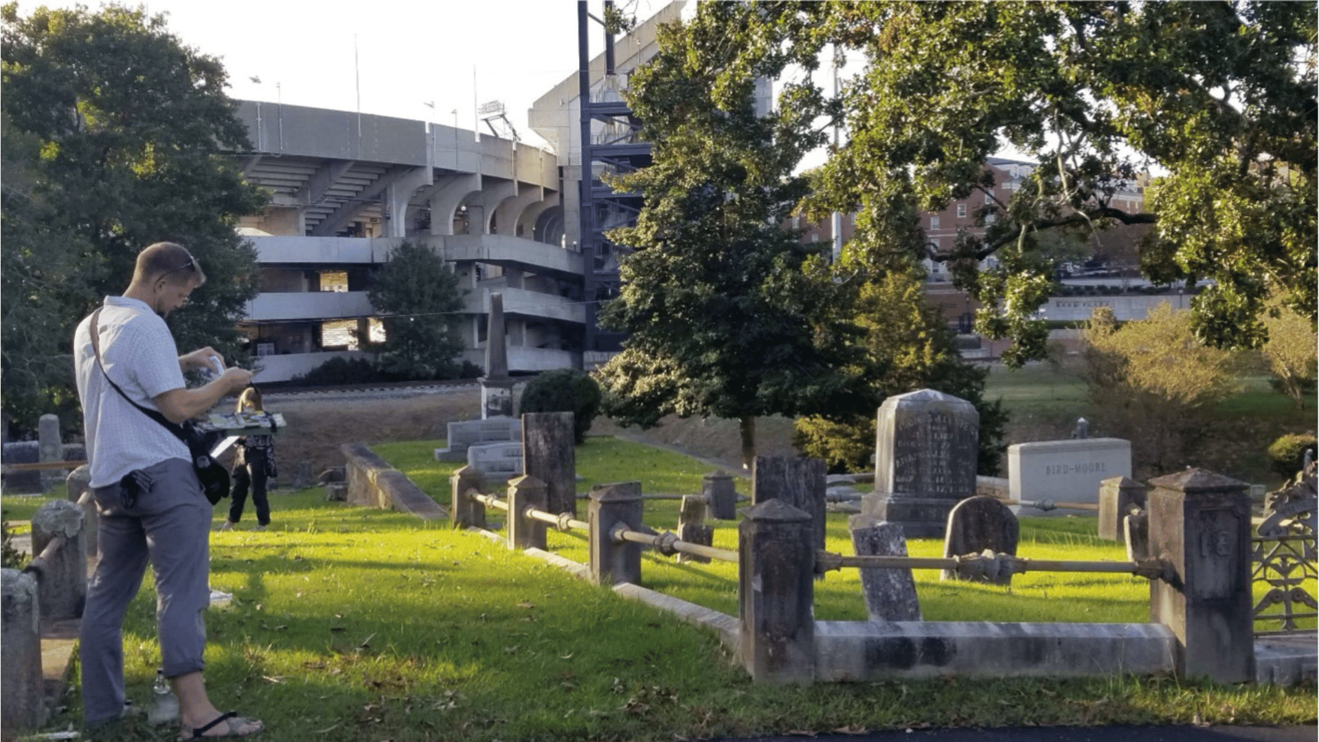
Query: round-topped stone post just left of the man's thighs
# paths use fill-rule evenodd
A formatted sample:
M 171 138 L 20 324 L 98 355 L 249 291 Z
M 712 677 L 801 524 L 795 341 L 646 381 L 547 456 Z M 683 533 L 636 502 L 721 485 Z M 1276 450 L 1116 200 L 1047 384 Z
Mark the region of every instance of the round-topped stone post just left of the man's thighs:
M 67 619 L 82 615 L 87 602 L 87 539 L 82 506 L 69 500 L 51 500 L 37 508 L 32 516 L 32 553 L 41 552 L 55 537 L 63 536 L 65 545 L 46 558 L 34 558 L 25 572 L 36 572 L 41 586 L 38 598 L 41 615 L 46 619 Z

